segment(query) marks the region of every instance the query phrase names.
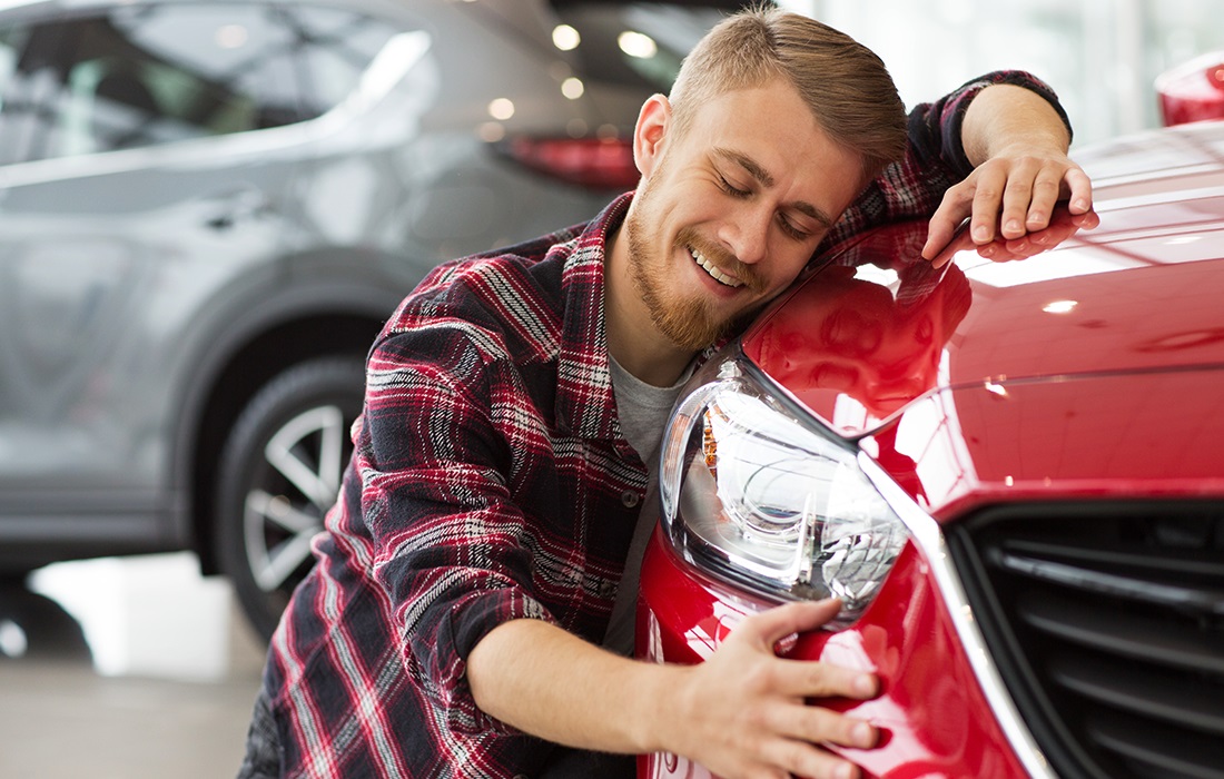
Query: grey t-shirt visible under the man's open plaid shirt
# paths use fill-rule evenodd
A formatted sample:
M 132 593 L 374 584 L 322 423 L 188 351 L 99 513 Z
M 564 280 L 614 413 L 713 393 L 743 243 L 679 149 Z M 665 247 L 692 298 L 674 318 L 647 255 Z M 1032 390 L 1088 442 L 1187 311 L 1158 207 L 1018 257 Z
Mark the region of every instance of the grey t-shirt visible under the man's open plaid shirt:
M 650 534 L 659 522 L 659 446 L 672 407 L 681 394 L 681 387 L 693 374 L 689 366 L 671 387 L 655 387 L 641 381 L 608 355 L 612 367 L 612 392 L 616 394 L 617 418 L 621 431 L 650 470 L 650 484 L 641 502 L 638 525 L 629 545 L 624 577 L 617 589 L 612 621 L 608 623 L 603 647 L 618 654 L 633 654 L 634 611 L 638 603 L 638 583 L 641 576 L 641 557 L 646 552 Z

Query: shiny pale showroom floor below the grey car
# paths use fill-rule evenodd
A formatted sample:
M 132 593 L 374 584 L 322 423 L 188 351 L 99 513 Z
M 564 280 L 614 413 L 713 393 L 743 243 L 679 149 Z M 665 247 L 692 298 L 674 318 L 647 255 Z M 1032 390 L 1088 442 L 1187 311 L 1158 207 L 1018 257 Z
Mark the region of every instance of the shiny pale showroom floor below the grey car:
M 0 589 L 0 777 L 234 777 L 263 649 L 226 582 L 159 555 L 31 590 Z

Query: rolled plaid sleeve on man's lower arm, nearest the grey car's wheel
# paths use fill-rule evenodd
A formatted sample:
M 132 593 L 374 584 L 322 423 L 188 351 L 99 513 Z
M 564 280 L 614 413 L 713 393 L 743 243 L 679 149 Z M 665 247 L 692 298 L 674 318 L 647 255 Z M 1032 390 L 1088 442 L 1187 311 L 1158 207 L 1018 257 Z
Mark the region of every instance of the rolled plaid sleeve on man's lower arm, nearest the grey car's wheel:
M 514 619 L 556 622 L 532 592 L 532 534 L 507 484 L 523 409 L 497 338 L 470 322 L 420 317 L 377 343 L 356 438 L 368 568 L 390 630 L 436 710 L 475 730 L 513 729 L 475 706 L 470 650 Z M 517 419 L 513 419 L 518 416 Z

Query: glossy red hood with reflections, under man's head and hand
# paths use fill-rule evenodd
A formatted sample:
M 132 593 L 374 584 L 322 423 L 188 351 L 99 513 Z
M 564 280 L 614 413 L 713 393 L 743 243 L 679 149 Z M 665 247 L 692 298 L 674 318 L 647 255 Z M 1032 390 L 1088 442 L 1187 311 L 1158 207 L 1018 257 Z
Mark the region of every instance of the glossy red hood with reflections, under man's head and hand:
M 935 271 L 924 223 L 885 228 L 763 316 L 745 354 L 852 437 L 939 390 L 1224 366 L 1224 124 L 1089 157 L 1104 171 L 1095 230 Z

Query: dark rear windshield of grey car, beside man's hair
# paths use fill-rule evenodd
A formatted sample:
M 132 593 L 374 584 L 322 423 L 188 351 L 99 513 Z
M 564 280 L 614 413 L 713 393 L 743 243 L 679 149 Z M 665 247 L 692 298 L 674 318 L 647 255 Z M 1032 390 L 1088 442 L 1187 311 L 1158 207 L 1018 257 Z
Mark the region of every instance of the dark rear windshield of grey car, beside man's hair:
M 684 55 L 727 13 L 717 6 L 737 4 L 553 0 L 552 5 L 568 28 L 554 32 L 554 42 L 573 50 L 589 77 L 667 92 Z

